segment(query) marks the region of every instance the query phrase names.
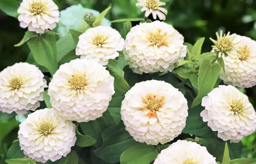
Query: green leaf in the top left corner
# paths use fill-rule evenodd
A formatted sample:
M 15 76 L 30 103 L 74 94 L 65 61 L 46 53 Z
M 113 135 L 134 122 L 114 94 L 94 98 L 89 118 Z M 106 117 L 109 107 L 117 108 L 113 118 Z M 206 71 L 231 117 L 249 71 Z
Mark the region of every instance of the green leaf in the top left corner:
M 17 18 L 18 17 L 18 2 L 17 0 L 1 0 L 0 1 L 0 9 L 6 14 L 11 17 Z

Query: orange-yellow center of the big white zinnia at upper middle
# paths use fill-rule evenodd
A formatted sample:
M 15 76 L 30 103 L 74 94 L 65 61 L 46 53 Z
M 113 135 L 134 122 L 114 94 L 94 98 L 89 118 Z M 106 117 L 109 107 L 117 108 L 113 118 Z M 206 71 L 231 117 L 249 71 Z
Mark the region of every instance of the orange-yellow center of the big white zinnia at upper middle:
M 168 47 L 167 33 L 165 32 L 161 34 L 161 31 L 161 29 L 157 29 L 156 33 L 149 32 L 148 40 L 157 47 L 161 47 L 163 45 Z

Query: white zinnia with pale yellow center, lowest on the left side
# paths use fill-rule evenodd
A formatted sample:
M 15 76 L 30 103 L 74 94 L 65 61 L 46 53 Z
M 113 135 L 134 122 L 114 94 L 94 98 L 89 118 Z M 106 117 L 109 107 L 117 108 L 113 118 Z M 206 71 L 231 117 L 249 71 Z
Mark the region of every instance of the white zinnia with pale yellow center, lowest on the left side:
M 28 115 L 18 132 L 20 148 L 29 158 L 45 163 L 66 157 L 76 142 L 76 125 L 64 120 L 54 109 Z

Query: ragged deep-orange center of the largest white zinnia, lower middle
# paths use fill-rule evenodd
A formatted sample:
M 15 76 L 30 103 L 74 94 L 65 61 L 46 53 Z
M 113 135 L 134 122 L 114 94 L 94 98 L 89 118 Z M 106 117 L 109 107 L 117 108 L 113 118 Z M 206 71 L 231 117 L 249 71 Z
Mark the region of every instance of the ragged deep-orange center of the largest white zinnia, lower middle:
M 162 96 L 161 98 L 156 98 L 156 95 L 153 95 L 152 93 L 148 94 L 146 98 L 142 98 L 142 102 L 145 104 L 145 107 L 142 108 L 142 111 L 149 110 L 147 116 L 149 118 L 156 118 L 156 112 L 159 110 L 159 108 L 162 107 L 162 105 L 164 104 L 164 100 L 164 96 Z

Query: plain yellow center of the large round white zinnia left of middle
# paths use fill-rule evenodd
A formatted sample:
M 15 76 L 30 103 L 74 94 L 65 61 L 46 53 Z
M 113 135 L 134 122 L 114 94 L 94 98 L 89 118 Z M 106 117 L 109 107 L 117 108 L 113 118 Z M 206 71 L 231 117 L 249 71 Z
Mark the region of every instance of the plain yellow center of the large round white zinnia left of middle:
M 72 90 L 83 90 L 87 85 L 87 79 L 85 74 L 75 74 L 68 80 L 68 83 Z

